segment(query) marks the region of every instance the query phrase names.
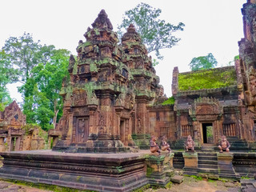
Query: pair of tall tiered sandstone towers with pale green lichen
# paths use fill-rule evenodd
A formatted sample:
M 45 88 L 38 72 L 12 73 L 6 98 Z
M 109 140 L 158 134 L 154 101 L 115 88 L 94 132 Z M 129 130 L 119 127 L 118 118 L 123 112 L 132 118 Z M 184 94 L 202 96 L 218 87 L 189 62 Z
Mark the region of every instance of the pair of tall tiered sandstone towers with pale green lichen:
M 130 25 L 118 45 L 102 10 L 70 56 L 70 81 L 63 82 L 62 133 L 53 150 L 122 152 L 135 146 L 132 135 L 148 133 L 146 105 L 160 95 L 159 79 L 142 40 Z M 138 138 L 139 135 L 139 138 Z

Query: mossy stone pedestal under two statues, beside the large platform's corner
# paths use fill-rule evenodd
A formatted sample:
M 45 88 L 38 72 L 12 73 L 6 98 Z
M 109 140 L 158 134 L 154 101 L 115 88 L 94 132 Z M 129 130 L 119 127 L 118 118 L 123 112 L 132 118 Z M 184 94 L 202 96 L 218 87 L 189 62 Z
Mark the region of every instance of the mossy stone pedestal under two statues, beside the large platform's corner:
M 158 153 L 146 155 L 146 178 L 151 186 L 166 186 L 170 182 L 170 174 L 173 168 L 172 159 L 174 154 L 165 153 L 158 155 Z M 171 162 L 170 162 L 171 161 Z

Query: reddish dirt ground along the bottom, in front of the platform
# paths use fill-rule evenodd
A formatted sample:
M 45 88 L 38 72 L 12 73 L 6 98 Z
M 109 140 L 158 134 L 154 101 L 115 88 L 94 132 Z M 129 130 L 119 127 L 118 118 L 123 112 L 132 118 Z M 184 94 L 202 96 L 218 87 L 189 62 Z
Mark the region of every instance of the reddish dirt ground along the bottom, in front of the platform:
M 238 182 L 221 182 L 221 181 L 206 181 L 196 178 L 184 177 L 181 184 L 173 184 L 170 189 L 147 189 L 146 192 L 215 192 L 215 191 L 230 191 L 235 187 L 239 187 Z M 40 190 L 32 186 L 24 186 L 0 180 L 0 192 L 51 192 L 52 190 Z M 58 190 L 62 191 L 62 190 Z

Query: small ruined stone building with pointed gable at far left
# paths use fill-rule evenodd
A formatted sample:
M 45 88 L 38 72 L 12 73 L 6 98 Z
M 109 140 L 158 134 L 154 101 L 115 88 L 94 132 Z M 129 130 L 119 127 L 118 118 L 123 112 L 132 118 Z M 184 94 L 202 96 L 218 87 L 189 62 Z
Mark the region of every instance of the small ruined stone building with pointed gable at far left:
M 42 150 L 45 140 L 39 135 L 41 128 L 26 126 L 26 115 L 17 102 L 0 111 L 0 151 Z

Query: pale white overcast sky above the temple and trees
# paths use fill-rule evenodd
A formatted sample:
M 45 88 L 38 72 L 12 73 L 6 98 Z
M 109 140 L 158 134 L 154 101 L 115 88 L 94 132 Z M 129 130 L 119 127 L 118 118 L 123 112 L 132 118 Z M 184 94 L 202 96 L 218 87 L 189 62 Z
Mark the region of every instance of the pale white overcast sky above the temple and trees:
M 192 58 L 209 53 L 214 55 L 218 66 L 226 66 L 238 55 L 238 41 L 244 37 L 241 8 L 246 0 L 0 0 L 0 48 L 7 38 L 26 32 L 35 41 L 77 54 L 78 41 L 85 42 L 83 34 L 100 10 L 106 10 L 117 31 L 125 11 L 140 2 L 161 9 L 160 18 L 166 22 L 185 24 L 184 31 L 174 33 L 181 41 L 161 50 L 164 59 L 155 66 L 167 97 L 171 96 L 174 66 L 180 72 L 190 71 L 188 64 Z M 22 102 L 17 86 L 8 85 L 10 96 Z

